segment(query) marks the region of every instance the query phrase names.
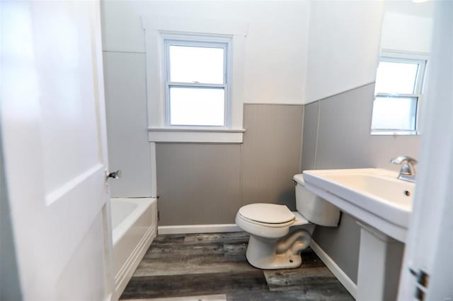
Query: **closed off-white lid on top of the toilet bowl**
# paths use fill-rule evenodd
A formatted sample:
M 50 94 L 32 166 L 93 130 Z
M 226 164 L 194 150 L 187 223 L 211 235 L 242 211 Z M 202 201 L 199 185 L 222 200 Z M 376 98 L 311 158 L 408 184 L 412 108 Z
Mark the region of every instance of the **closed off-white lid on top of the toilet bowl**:
M 258 223 L 281 224 L 294 220 L 294 214 L 285 205 L 275 203 L 252 203 L 242 206 L 239 214 Z

